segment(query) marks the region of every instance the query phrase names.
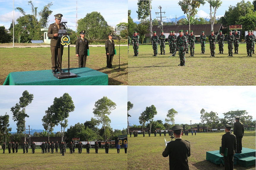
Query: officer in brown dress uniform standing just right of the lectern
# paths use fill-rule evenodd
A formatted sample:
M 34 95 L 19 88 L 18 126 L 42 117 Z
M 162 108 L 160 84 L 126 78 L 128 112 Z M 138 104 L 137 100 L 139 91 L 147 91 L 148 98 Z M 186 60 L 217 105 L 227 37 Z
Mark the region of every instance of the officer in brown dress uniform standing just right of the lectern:
M 85 31 L 80 32 L 81 38 L 76 40 L 75 44 L 75 54 L 78 57 L 78 67 L 85 67 L 86 57 L 88 54 L 89 43 L 88 40 L 84 38 Z

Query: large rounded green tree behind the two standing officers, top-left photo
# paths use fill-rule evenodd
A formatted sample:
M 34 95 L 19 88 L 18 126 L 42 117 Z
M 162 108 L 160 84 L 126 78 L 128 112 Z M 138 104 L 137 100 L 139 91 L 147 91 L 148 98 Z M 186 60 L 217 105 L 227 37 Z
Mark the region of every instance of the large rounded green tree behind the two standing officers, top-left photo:
M 87 13 L 77 21 L 77 30 L 85 30 L 85 38 L 89 40 L 106 39 L 111 32 L 110 26 L 99 12 Z

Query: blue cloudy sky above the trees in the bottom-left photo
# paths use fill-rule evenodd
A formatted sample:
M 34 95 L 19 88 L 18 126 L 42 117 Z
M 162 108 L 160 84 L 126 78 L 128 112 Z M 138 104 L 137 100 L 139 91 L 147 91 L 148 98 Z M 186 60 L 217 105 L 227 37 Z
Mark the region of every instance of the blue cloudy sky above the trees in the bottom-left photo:
M 64 93 L 72 97 L 75 105 L 75 111 L 69 113 L 68 128 L 78 122 L 90 121 L 91 117 L 94 117 L 92 111 L 95 102 L 103 96 L 116 103 L 116 109 L 109 116 L 110 126 L 120 130 L 127 128 L 127 86 L 1 86 L 0 115 L 10 115 L 12 131 L 17 131 L 17 126 L 12 120 L 10 109 L 19 102 L 25 90 L 34 95 L 34 100 L 26 107 L 26 113 L 29 115 L 29 118 L 26 118 L 27 129 L 28 125 L 31 129 L 44 129 L 41 119 L 45 110 L 53 104 L 55 97 L 59 98 Z M 99 125 L 99 128 L 101 127 L 102 125 Z M 55 126 L 54 131 L 60 130 L 60 125 Z

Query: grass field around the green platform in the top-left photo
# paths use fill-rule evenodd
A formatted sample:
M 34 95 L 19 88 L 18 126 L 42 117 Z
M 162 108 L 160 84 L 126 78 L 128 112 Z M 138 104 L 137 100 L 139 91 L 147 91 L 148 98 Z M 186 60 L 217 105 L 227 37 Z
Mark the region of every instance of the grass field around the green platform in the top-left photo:
M 117 55 L 114 56 L 112 65 L 119 67 L 119 46 L 116 46 Z M 89 47 L 90 56 L 87 56 L 86 67 L 108 74 L 108 85 L 128 85 L 127 71 L 106 68 L 105 47 Z M 50 47 L 40 48 L 1 48 L 1 73 L 0 84 L 4 83 L 10 72 L 51 70 Z M 120 68 L 127 69 L 127 46 L 120 47 Z M 68 68 L 68 48 L 64 48 L 62 68 Z M 75 56 L 75 47 L 70 47 L 70 68 L 78 68 L 78 57 Z

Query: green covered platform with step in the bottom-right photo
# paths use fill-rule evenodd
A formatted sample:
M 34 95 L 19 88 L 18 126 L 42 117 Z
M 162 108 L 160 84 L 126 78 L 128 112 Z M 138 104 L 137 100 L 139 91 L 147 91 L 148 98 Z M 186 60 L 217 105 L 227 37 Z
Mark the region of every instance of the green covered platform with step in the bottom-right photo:
M 249 149 L 249 148 L 242 148 L 242 153 L 236 153 L 234 155 L 234 165 L 239 164 L 238 159 L 244 158 L 244 157 L 255 157 L 256 156 L 256 150 L 255 149 Z M 219 150 L 214 151 L 208 151 L 206 152 L 206 160 L 211 161 L 212 163 L 215 163 L 217 165 L 224 165 L 224 158 L 222 155 L 219 154 Z M 247 159 L 250 160 L 250 159 Z M 246 161 L 246 159 L 242 160 L 243 162 Z M 242 162 L 239 161 L 239 162 Z M 244 163 L 246 164 L 246 163 Z M 241 164 L 239 164 L 241 165 Z M 241 165 L 243 166 L 243 165 Z

